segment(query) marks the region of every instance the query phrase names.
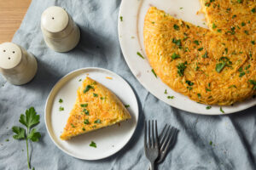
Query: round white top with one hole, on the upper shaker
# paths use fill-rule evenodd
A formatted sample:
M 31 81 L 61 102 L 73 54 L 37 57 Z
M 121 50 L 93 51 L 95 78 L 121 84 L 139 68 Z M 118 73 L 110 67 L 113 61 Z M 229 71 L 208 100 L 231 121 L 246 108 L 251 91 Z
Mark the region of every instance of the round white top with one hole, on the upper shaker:
M 63 31 L 68 25 L 68 14 L 61 7 L 49 7 L 42 14 L 41 24 L 52 33 Z

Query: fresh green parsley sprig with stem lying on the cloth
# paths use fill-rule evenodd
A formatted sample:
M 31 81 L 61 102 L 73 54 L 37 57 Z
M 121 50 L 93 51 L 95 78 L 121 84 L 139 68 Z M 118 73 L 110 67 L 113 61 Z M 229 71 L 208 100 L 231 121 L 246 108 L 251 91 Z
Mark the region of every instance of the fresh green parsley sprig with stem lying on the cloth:
M 30 166 L 30 158 L 28 154 L 28 139 L 30 139 L 32 142 L 38 142 L 39 139 L 41 138 L 41 134 L 37 132 L 35 127 L 39 123 L 40 116 L 37 115 L 35 109 L 33 107 L 29 108 L 26 110 L 26 114 L 21 114 L 20 115 L 20 120 L 19 122 L 23 124 L 25 128 L 23 127 L 12 127 L 13 132 L 15 135 L 13 136 L 14 139 L 17 140 L 22 140 L 26 139 L 26 157 L 27 157 L 27 167 L 31 169 Z M 34 169 L 34 167 L 32 168 Z

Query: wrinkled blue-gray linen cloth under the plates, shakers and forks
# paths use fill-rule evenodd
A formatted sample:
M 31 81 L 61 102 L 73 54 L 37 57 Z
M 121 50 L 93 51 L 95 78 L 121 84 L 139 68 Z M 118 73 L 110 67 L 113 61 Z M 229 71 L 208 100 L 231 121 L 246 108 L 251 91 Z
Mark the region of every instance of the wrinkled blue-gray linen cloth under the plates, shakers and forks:
M 30 143 L 32 166 L 36 169 L 146 169 L 143 150 L 143 121 L 157 119 L 177 127 L 177 144 L 159 169 L 256 169 L 256 107 L 232 115 L 200 116 L 179 111 L 156 99 L 137 82 L 119 48 L 117 31 L 119 0 L 33 0 L 13 42 L 38 59 L 38 73 L 26 85 L 14 86 L 0 77 L 0 169 L 27 169 L 26 142 L 12 138 L 11 127 L 19 125 L 20 113 L 34 106 L 41 116 L 42 139 Z M 81 40 L 69 53 L 47 48 L 40 30 L 45 8 L 65 8 L 79 25 Z M 118 73 L 137 94 L 140 116 L 136 133 L 125 148 L 100 161 L 68 156 L 49 139 L 44 125 L 45 100 L 55 82 L 70 71 L 102 67 Z M 9 141 L 6 141 L 9 139 Z M 212 141 L 212 144 L 210 144 Z

